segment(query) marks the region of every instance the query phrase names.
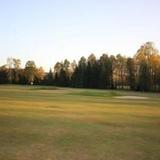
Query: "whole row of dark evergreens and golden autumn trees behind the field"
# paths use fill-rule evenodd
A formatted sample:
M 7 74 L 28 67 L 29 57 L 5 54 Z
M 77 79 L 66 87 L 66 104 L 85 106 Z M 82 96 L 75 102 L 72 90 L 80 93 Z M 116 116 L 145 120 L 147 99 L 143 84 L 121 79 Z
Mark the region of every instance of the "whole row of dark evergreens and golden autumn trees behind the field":
M 8 58 L 0 67 L 0 84 L 160 91 L 160 55 L 154 44 L 147 42 L 133 57 L 102 54 L 97 59 L 91 54 L 78 63 L 57 62 L 47 73 L 34 61 L 21 68 L 19 59 Z

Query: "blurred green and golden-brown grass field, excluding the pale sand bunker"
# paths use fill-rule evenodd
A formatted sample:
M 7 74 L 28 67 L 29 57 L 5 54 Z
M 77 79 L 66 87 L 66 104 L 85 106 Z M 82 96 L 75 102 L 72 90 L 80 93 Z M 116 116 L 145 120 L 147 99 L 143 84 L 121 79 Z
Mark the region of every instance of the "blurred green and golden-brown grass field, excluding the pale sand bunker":
M 0 86 L 0 160 L 160 160 L 160 95 Z

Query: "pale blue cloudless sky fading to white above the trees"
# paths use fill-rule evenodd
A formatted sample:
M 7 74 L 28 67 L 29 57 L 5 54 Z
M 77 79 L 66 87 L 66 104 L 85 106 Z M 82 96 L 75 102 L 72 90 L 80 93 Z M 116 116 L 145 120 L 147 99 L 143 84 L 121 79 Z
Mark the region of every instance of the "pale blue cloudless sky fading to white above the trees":
M 0 0 L 0 65 L 7 57 L 47 71 L 65 58 L 133 56 L 160 49 L 160 0 Z

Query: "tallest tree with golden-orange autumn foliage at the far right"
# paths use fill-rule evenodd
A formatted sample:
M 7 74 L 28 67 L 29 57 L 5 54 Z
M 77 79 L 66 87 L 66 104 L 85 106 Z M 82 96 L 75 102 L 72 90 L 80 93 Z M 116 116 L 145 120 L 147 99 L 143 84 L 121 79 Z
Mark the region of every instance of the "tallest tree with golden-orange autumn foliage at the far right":
M 159 51 L 155 48 L 153 42 L 146 42 L 144 45 L 140 47 L 134 56 L 136 62 L 136 79 L 137 84 L 139 84 L 139 79 L 141 75 L 141 70 L 146 70 L 147 81 L 150 83 L 150 90 L 156 90 L 158 87 L 157 78 L 158 78 L 158 66 L 159 66 Z M 142 69 L 143 68 L 143 69 Z M 147 84 L 146 84 L 147 85 Z M 144 87 L 144 86 L 143 86 Z M 142 88 L 138 86 L 138 88 Z

